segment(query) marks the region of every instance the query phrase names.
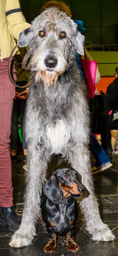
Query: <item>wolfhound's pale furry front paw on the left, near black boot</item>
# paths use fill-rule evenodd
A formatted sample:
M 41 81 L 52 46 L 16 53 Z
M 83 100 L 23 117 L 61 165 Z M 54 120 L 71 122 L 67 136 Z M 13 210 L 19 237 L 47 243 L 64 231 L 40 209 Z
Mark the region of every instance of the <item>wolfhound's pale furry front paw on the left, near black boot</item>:
M 16 232 L 12 236 L 11 242 L 9 243 L 11 247 L 24 247 L 31 244 L 31 241 L 33 240 L 32 235 L 21 235 Z

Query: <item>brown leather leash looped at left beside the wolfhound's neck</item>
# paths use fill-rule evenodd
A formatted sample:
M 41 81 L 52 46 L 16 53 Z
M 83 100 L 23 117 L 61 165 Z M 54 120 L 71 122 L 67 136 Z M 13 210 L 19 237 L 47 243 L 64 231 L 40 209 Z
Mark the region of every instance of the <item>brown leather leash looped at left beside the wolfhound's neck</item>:
M 15 51 L 15 49 L 17 48 L 18 46 L 16 45 L 13 50 L 11 51 L 11 54 L 10 54 L 10 57 L 9 57 L 9 63 L 8 63 L 8 76 L 9 76 L 9 80 L 11 81 L 11 83 L 13 83 L 13 85 L 15 85 L 16 87 L 19 87 L 21 88 L 21 86 L 17 85 L 15 83 L 15 80 L 13 80 L 12 76 L 11 76 L 11 59 L 12 59 L 12 56 L 13 56 L 13 53 Z M 28 64 L 28 66 L 26 67 L 26 62 L 27 60 L 29 59 L 30 55 L 29 55 L 29 52 L 27 51 L 26 55 L 24 56 L 24 59 L 22 61 L 23 65 L 22 65 L 22 68 L 28 70 L 30 68 L 30 63 Z M 22 86 L 22 88 L 26 88 L 30 85 L 30 81 L 28 83 L 26 83 L 26 85 Z

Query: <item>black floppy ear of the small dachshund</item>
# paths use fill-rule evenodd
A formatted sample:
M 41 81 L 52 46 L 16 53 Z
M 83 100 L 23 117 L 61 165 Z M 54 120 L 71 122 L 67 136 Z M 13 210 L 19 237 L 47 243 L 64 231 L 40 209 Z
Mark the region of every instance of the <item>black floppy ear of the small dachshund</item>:
M 53 203 L 60 203 L 62 200 L 62 193 L 57 185 L 56 178 L 54 175 L 47 180 L 46 185 L 44 186 L 44 194 L 48 197 Z

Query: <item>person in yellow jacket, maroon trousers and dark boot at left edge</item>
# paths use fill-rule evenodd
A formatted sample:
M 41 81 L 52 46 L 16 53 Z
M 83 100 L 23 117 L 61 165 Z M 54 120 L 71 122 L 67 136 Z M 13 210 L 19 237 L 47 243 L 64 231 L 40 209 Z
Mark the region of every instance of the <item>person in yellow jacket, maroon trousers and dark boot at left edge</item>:
M 30 27 L 18 0 L 0 0 L 0 224 L 16 231 L 20 218 L 13 209 L 13 186 L 9 142 L 15 86 L 9 81 L 8 61 L 19 32 Z M 19 53 L 18 49 L 15 54 Z M 13 63 L 13 61 L 12 61 Z M 12 66 L 13 71 L 14 67 Z

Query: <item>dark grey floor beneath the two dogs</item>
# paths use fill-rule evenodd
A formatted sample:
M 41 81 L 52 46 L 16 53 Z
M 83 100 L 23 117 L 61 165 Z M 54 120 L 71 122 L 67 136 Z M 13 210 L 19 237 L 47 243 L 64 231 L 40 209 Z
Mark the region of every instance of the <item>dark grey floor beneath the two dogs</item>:
M 77 252 L 66 251 L 66 237 L 60 237 L 57 241 L 55 256 L 116 256 L 118 255 L 118 155 L 111 156 L 113 167 L 107 171 L 94 174 L 94 185 L 96 196 L 100 205 L 100 214 L 102 220 L 109 225 L 116 240 L 113 242 L 95 242 L 92 241 L 87 233 L 81 213 L 77 220 L 76 242 L 79 245 Z M 94 158 L 91 159 L 92 164 Z M 23 209 L 23 193 L 25 188 L 24 170 L 22 169 L 22 153 L 18 155 L 17 163 L 13 163 L 13 194 L 17 213 L 21 216 Z M 0 255 L 1 256 L 44 256 L 46 254 L 43 247 L 48 241 L 48 234 L 44 223 L 37 229 L 37 236 L 33 243 L 25 248 L 9 247 L 10 237 L 13 232 L 6 226 L 0 225 Z

